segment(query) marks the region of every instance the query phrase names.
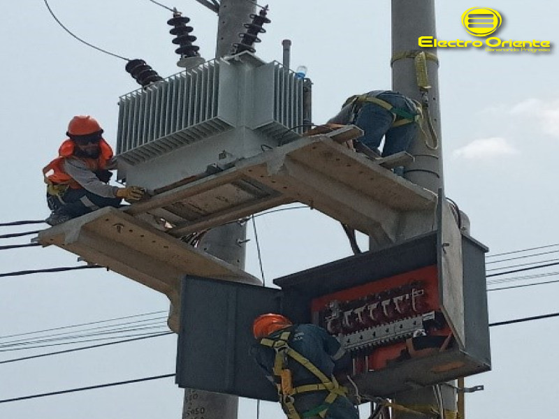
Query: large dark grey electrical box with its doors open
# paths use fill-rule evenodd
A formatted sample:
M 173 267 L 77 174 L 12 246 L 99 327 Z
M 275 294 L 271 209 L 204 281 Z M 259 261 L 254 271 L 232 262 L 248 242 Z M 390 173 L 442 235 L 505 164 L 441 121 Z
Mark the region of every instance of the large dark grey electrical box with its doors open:
M 275 400 L 249 356 L 252 321 L 266 312 L 336 336 L 363 394 L 387 397 L 488 371 L 487 249 L 461 235 L 445 207 L 432 233 L 275 279 L 280 289 L 186 277 L 177 383 Z

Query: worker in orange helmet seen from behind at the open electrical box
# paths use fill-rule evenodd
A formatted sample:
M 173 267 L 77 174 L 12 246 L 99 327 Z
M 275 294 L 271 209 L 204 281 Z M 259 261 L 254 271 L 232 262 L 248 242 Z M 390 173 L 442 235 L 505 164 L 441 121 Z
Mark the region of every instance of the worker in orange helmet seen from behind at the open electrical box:
M 351 358 L 335 337 L 317 325 L 293 325 L 281 314 L 262 314 L 253 323 L 256 362 L 276 385 L 289 419 L 358 419 L 356 407 L 335 378 Z

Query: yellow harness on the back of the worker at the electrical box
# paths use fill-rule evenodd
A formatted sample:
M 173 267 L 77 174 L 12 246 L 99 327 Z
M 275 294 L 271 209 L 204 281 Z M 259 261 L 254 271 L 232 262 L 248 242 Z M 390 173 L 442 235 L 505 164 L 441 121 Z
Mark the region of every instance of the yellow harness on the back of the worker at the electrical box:
M 326 374 L 314 366 L 310 360 L 307 360 L 307 358 L 297 351 L 294 351 L 293 348 L 289 346 L 289 337 L 291 337 L 292 331 L 292 328 L 288 328 L 279 334 L 278 337 L 265 337 L 260 341 L 261 345 L 268 346 L 275 350 L 273 372 L 277 387 L 277 394 L 279 395 L 279 399 L 282 402 L 282 405 L 286 410 L 286 415 L 289 419 L 308 419 L 317 416 L 324 418 L 328 408 L 335 401 L 336 397 L 345 395 L 345 389 L 337 383 L 337 380 L 334 377 L 327 377 Z M 293 387 L 291 370 L 287 367 L 288 358 L 291 358 L 300 365 L 303 365 L 303 367 L 314 374 L 314 376 L 317 376 L 320 383 Z M 304 392 L 322 390 L 328 391 L 328 395 L 322 404 L 303 413 L 296 411 L 294 404 L 295 399 L 293 396 Z

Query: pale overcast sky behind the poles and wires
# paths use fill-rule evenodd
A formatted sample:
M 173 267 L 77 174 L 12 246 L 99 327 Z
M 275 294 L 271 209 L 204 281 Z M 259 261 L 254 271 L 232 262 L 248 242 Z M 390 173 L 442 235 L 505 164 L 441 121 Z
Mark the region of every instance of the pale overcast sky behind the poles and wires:
M 215 13 L 194 0 L 161 2 L 191 17 L 201 53 L 212 58 Z M 51 0 L 50 5 L 68 28 L 90 43 L 124 57 L 143 58 L 164 77 L 180 70 L 168 34 L 168 10 L 147 0 Z M 556 2 L 441 0 L 436 6 L 440 39 L 472 39 L 460 16 L 467 8 L 485 6 L 502 13 L 500 38 L 559 42 Z M 2 11 L 0 222 L 44 219 L 48 210 L 41 168 L 55 157 L 68 120 L 93 115 L 115 145 L 118 97 L 137 84 L 124 71 L 124 61 L 66 34 L 42 0 L 6 2 Z M 390 88 L 389 1 L 270 0 L 269 17 L 272 23 L 256 54 L 265 61 L 281 61 L 282 39 L 293 41 L 292 67 L 305 64 L 314 82 L 315 123 L 334 115 L 351 94 Z M 439 51 L 447 196 L 470 216 L 472 235 L 491 253 L 559 242 L 556 47 L 545 54 Z M 256 224 L 268 282 L 351 254 L 338 224 L 314 211 L 261 216 Z M 34 227 L 3 228 L 0 234 Z M 252 230 L 249 237 L 253 240 L 247 243 L 247 270 L 259 277 Z M 2 240 L 0 245 L 26 242 L 23 237 Z M 553 254 L 545 257 L 551 259 Z M 0 251 L 0 272 L 68 265 L 78 265 L 76 257 L 57 248 Z M 5 277 L 0 284 L 0 344 L 29 337 L 8 339 L 9 335 L 168 309 L 164 295 L 102 270 Z M 490 320 L 559 311 L 558 287 L 491 292 Z M 147 317 L 157 316 L 165 313 Z M 483 392 L 467 395 L 468 418 L 555 415 L 557 322 L 551 318 L 492 328 L 493 372 L 467 379 L 467 385 L 485 386 Z M 3 351 L 0 361 L 64 348 Z M 175 351 L 175 337 L 170 335 L 0 364 L 0 399 L 170 374 Z M 0 404 L 0 417 L 177 419 L 182 394 L 173 378 L 166 378 Z M 242 400 L 240 406 L 240 417 L 256 417 L 256 402 Z M 265 404 L 262 415 L 282 417 L 272 404 Z

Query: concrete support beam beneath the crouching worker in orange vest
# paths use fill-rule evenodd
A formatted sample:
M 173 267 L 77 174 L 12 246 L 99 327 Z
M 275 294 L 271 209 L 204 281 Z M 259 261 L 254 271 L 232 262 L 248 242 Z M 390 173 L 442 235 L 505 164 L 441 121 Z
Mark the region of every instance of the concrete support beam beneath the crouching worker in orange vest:
M 185 274 L 260 284 L 259 279 L 237 267 L 112 207 L 42 230 L 36 241 L 43 247 L 55 245 L 71 251 L 88 263 L 164 293 L 172 304 L 168 323 L 175 332 L 179 326 L 180 278 Z

